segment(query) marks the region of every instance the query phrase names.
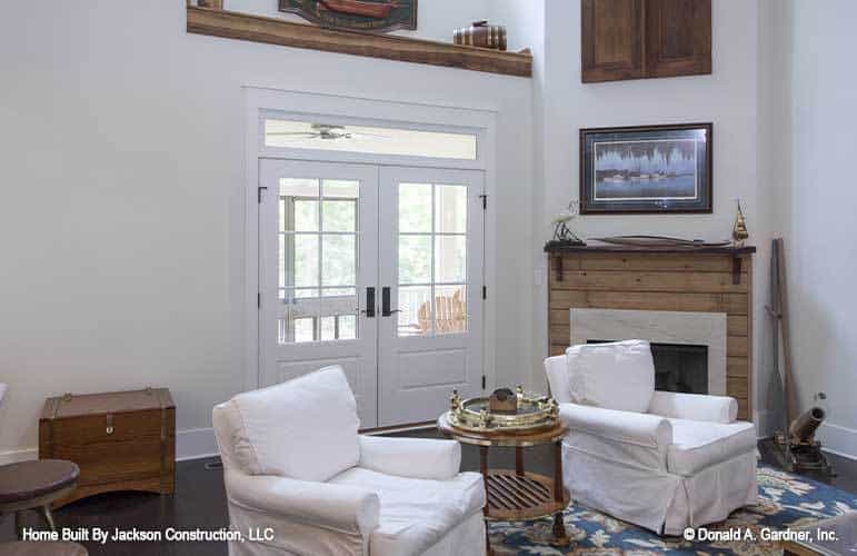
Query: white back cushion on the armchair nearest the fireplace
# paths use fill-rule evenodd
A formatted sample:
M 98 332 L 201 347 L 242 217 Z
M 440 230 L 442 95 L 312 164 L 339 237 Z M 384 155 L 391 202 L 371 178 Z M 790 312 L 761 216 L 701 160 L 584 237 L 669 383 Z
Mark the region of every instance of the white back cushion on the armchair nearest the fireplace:
M 648 341 L 584 344 L 566 350 L 575 404 L 646 413 L 655 393 L 655 363 Z

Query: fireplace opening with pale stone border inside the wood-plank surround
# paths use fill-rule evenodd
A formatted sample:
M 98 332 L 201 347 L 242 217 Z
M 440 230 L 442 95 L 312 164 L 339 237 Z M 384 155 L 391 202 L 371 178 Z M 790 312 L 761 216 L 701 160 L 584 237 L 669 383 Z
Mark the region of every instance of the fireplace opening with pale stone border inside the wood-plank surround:
M 726 314 L 570 309 L 571 345 L 648 340 L 659 390 L 726 395 Z

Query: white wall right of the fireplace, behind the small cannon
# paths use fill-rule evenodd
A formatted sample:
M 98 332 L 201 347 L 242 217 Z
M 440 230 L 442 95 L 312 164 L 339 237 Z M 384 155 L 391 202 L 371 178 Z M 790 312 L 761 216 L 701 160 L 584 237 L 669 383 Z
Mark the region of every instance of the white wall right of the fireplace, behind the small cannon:
M 785 239 L 801 409 L 824 391 L 821 440 L 857 457 L 857 3 L 791 0 L 791 176 Z

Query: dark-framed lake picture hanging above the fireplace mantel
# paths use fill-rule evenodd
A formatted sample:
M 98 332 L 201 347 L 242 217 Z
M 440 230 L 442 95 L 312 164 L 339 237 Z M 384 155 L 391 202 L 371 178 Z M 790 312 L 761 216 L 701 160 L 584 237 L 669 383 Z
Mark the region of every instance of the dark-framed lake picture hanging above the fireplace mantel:
M 710 214 L 714 125 L 580 130 L 580 214 Z

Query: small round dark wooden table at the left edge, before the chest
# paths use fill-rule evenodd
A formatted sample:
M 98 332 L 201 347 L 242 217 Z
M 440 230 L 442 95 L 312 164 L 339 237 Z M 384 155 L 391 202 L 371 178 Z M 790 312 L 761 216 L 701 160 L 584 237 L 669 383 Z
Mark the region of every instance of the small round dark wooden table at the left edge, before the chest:
M 14 528 L 22 538 L 21 515 L 28 509 L 38 510 L 57 530 L 50 505 L 71 494 L 78 486 L 80 469 L 64 459 L 39 459 L 0 466 L 0 514 L 14 512 Z

